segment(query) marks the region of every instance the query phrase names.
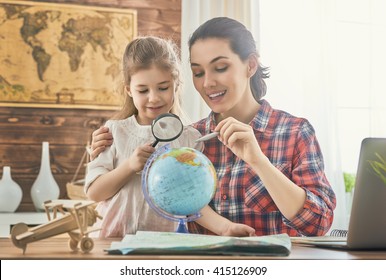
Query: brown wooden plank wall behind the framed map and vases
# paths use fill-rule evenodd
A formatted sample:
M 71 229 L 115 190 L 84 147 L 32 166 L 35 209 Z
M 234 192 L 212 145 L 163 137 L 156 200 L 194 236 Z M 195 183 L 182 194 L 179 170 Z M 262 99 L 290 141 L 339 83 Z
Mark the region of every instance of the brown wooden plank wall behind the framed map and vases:
M 138 35 L 181 41 L 181 0 L 56 0 L 39 1 L 136 9 Z M 1 68 L 1 71 L 6 71 Z M 11 175 L 23 190 L 17 212 L 35 211 L 30 190 L 40 169 L 42 142 L 50 142 L 51 169 L 67 198 L 71 181 L 90 135 L 113 114 L 109 110 L 0 107 L 0 174 Z M 84 176 L 84 168 L 79 177 Z

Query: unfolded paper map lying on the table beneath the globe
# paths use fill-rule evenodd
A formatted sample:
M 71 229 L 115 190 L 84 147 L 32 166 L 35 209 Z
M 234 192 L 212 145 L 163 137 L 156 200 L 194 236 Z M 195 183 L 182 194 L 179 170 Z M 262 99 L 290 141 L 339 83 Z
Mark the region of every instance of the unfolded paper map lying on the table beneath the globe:
M 266 255 L 288 256 L 287 234 L 229 237 L 176 232 L 138 231 L 112 242 L 109 254 Z

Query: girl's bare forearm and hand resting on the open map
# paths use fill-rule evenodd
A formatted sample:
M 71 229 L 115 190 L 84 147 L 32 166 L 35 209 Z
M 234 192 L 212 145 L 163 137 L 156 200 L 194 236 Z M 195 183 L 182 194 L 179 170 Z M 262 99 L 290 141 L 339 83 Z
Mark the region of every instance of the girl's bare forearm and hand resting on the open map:
M 217 235 L 223 236 L 254 236 L 255 230 L 247 225 L 238 224 L 217 214 L 211 207 L 201 210 L 202 217 L 196 220 L 198 224 Z

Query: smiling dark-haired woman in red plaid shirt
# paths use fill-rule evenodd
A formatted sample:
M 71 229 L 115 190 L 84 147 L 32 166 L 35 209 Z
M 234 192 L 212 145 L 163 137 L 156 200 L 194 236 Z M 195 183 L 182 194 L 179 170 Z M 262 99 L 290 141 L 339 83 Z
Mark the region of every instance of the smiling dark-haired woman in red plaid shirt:
M 236 20 L 213 18 L 192 34 L 189 51 L 194 86 L 212 110 L 194 127 L 219 132 L 204 148 L 218 176 L 211 208 L 256 235 L 324 235 L 336 198 L 315 131 L 262 99 L 268 73 L 252 34 Z M 93 156 L 104 141 L 109 134 L 94 132 Z M 210 233 L 204 227 L 190 223 L 192 232 Z

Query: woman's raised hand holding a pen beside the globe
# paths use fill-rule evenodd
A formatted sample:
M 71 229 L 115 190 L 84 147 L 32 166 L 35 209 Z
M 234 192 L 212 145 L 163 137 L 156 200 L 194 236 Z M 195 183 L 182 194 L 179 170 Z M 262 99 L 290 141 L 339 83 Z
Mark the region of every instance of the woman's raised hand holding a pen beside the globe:
M 219 131 L 219 140 L 245 162 L 252 164 L 263 156 L 250 125 L 229 117 L 222 120 L 215 131 Z

